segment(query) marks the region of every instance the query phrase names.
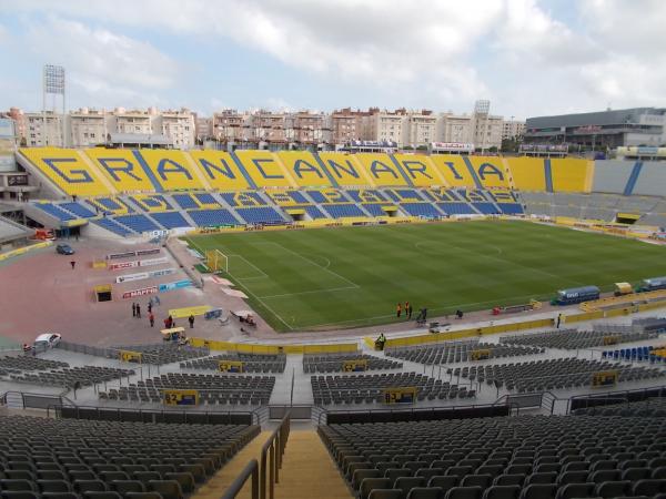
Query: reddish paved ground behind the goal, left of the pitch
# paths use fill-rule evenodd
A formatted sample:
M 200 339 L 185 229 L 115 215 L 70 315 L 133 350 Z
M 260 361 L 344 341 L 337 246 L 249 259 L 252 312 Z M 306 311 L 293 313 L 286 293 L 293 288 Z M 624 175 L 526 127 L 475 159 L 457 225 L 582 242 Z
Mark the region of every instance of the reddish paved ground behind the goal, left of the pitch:
M 87 345 L 118 345 L 159 343 L 160 329 L 169 308 L 194 305 L 214 305 L 199 289 L 186 288 L 161 293 L 161 306 L 153 309 L 155 326 L 151 328 L 148 320 L 148 297 L 137 299 L 141 304 L 142 318 L 132 317 L 132 299 L 122 299 L 123 291 L 148 287 L 188 278 L 179 269 L 175 274 L 155 279 L 134 281 L 114 284 L 115 277 L 122 274 L 141 272 L 139 268 L 127 268 L 111 272 L 94 269 L 94 258 L 103 259 L 108 253 L 154 247 L 148 244 L 128 245 L 103 240 L 67 241 L 77 251 L 73 256 L 56 254 L 54 246 L 37 249 L 34 253 L 10 258 L 0 264 L 0 336 L 21 343 L 32 343 L 34 337 L 44 332 L 62 335 L 63 339 Z M 127 259 L 144 259 L 157 256 L 169 256 L 162 248 L 160 255 L 131 257 Z M 70 261 L 75 261 L 72 271 Z M 170 258 L 169 264 L 147 267 L 159 269 L 179 267 Z M 143 269 L 142 269 L 143 271 Z M 113 284 L 113 302 L 95 303 L 93 287 L 100 284 Z M 214 320 L 196 317 L 191 335 L 201 335 L 213 339 L 226 339 L 231 332 L 222 332 Z M 176 324 L 188 327 L 186 319 Z

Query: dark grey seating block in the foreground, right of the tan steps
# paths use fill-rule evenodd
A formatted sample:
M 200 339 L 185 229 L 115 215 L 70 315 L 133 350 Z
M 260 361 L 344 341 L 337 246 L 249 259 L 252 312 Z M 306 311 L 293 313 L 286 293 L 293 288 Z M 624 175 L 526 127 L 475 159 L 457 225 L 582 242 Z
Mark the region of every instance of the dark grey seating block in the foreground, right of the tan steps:
M 659 497 L 664 428 L 663 417 L 521 416 L 319 432 L 361 499 L 564 499 Z

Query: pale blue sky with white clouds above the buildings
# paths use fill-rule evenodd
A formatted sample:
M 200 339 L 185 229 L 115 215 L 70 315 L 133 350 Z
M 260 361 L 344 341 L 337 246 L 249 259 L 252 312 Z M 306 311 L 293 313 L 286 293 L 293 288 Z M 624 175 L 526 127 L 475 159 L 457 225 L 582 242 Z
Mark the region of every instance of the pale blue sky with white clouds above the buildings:
M 0 109 L 666 105 L 665 0 L 0 0 Z

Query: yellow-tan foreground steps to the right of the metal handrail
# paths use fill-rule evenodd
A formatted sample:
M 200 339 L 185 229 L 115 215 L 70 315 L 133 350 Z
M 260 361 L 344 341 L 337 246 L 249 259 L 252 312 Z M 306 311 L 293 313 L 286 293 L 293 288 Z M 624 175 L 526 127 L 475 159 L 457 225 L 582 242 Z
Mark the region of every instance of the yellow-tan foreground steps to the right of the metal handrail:
M 275 485 L 276 499 L 352 499 L 331 455 L 314 430 L 291 431 Z

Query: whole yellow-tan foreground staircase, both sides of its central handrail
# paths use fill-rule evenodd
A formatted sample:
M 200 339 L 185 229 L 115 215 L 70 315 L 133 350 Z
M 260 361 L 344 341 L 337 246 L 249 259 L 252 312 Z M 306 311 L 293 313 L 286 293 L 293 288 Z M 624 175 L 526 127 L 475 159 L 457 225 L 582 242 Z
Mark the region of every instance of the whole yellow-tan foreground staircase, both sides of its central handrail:
M 220 499 L 250 459 L 261 462 L 261 448 L 270 436 L 271 431 L 262 431 L 194 492 L 192 499 Z M 353 498 L 326 447 L 313 429 L 292 429 L 290 432 L 274 496 L 275 499 Z M 250 479 L 236 497 L 251 498 Z

